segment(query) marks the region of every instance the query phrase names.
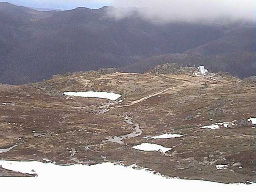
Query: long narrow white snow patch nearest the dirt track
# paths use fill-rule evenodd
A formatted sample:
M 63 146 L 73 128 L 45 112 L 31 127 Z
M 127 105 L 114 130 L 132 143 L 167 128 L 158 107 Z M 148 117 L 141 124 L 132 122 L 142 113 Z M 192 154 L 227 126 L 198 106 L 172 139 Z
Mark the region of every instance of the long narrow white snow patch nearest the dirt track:
M 102 98 L 109 100 L 117 100 L 122 97 L 120 94 L 115 94 L 112 92 L 95 92 L 95 91 L 87 91 L 87 92 L 64 92 L 66 96 L 74 96 L 74 97 L 90 97 L 90 98 Z

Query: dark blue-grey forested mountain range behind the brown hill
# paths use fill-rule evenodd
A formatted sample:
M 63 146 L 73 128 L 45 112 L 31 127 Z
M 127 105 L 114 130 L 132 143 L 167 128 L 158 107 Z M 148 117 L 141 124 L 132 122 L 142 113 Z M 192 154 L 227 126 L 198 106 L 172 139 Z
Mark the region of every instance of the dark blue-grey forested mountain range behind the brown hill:
M 38 11 L 0 2 L 0 83 L 108 67 L 144 72 L 164 62 L 240 78 L 256 71 L 252 22 L 153 24 L 139 14 L 116 20 L 109 9 Z

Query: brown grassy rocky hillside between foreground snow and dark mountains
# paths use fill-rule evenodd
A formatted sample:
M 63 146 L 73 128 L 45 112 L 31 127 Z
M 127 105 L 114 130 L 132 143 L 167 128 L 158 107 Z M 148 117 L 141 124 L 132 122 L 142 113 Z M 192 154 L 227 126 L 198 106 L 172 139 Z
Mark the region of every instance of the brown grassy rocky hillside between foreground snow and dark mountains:
M 115 162 L 184 179 L 255 181 L 255 125 L 248 121 L 255 117 L 254 86 L 253 77 L 240 80 L 223 72 L 202 77 L 197 68 L 176 64 L 144 74 L 101 69 L 20 86 L 0 84 L 0 149 L 17 145 L 0 158 L 61 165 Z M 63 94 L 84 91 L 122 97 Z M 173 138 L 150 138 L 162 134 Z M 169 150 L 135 149 L 142 143 Z M 217 169 L 220 164 L 227 170 Z M 0 168 L 0 174 L 14 173 Z

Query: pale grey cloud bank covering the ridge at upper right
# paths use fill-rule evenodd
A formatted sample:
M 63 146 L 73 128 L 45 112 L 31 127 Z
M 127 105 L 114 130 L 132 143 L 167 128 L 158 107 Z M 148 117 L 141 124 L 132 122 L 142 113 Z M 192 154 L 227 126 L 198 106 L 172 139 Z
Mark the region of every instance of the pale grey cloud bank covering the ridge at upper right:
M 222 18 L 250 20 L 255 17 L 254 0 L 113 0 L 109 14 L 116 19 L 132 16 L 134 11 L 154 22 L 198 22 Z

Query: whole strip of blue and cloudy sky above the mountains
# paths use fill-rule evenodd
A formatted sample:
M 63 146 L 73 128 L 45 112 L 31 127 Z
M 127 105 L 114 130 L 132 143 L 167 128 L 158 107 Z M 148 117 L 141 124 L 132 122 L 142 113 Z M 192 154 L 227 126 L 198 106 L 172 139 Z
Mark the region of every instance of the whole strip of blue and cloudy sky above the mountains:
M 36 7 L 70 9 L 78 6 L 100 8 L 102 6 L 123 7 L 111 14 L 116 18 L 128 16 L 132 8 L 140 8 L 144 18 L 154 20 L 200 20 L 230 17 L 254 19 L 255 0 L 6 0 L 8 2 Z

